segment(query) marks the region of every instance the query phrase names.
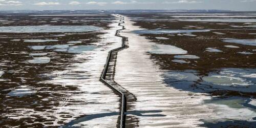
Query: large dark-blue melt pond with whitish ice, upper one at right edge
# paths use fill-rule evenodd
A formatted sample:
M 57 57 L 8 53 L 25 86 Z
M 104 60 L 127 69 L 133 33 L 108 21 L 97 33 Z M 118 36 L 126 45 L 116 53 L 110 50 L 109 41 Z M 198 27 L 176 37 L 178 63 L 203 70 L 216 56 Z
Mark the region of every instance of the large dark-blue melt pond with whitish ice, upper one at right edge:
M 164 81 L 172 87 L 191 92 L 256 92 L 255 72 L 256 69 L 226 68 L 200 76 L 196 71 L 169 71 L 164 74 Z

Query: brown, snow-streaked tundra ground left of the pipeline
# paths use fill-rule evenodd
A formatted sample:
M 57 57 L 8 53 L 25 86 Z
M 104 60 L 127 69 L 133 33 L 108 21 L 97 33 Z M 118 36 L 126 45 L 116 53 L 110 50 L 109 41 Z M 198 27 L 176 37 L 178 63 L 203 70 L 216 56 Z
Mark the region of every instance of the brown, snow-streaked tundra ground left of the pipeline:
M 106 53 L 121 45 L 114 36 L 118 18 L 30 13 L 0 18 L 1 127 L 57 127 L 119 111 L 118 96 L 99 81 Z M 117 117 L 86 125 L 115 126 Z

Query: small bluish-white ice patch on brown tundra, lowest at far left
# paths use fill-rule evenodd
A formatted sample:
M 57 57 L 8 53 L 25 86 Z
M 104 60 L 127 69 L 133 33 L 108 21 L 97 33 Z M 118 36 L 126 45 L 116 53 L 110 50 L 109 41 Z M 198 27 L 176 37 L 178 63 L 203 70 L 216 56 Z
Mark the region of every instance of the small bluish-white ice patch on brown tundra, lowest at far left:
M 23 97 L 23 96 L 32 95 L 33 93 L 35 93 L 35 91 L 33 91 L 31 88 L 27 86 L 21 86 L 15 90 L 12 90 L 10 93 L 8 93 L 8 95 Z

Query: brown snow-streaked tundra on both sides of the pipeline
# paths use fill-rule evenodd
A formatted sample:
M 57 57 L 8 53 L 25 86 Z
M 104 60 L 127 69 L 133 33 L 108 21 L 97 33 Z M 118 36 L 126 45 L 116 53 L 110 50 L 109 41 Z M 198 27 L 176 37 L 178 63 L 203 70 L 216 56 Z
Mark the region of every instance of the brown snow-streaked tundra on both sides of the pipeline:
M 0 127 L 117 127 L 100 81 L 119 17 L 0 13 Z M 133 95 L 126 127 L 254 127 L 256 13 L 121 13 L 113 80 Z

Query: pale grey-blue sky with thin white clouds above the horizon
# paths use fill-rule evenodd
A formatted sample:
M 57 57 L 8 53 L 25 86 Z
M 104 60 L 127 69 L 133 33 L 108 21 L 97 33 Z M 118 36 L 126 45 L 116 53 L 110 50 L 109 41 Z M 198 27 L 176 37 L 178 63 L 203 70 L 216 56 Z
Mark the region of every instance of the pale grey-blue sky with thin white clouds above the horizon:
M 256 0 L 0 0 L 0 10 L 220 9 L 256 11 Z

